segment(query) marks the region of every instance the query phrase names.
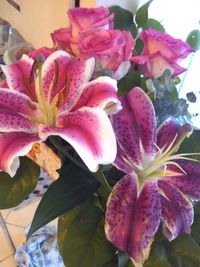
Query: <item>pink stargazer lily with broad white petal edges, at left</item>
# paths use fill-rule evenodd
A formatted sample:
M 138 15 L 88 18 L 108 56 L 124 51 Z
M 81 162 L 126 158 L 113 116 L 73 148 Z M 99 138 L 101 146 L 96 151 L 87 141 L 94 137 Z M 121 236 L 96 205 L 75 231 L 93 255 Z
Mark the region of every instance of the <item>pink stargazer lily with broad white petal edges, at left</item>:
M 116 156 L 115 135 L 107 114 L 120 109 L 116 81 L 99 77 L 89 81 L 94 59 L 76 60 L 64 51 L 44 62 L 24 55 L 2 66 L 6 76 L 0 88 L 0 170 L 14 176 L 19 156 L 50 135 L 70 143 L 95 172 Z

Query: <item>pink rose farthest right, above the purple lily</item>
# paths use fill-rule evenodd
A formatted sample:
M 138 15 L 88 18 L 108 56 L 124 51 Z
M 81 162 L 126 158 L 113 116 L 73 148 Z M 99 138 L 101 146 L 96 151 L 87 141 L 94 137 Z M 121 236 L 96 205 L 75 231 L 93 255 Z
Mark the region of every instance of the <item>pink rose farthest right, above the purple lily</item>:
M 194 50 L 180 39 L 148 29 L 140 33 L 144 43 L 142 55 L 133 57 L 133 63 L 141 64 L 139 69 L 148 78 L 158 78 L 166 69 L 176 76 L 186 69 L 179 62 Z

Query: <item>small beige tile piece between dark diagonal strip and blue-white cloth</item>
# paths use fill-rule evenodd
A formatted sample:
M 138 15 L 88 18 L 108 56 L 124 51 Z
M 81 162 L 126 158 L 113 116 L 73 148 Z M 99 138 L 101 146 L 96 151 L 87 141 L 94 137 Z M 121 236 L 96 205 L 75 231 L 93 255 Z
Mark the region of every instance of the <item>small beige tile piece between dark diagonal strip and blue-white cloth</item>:
M 24 228 L 7 224 L 7 229 L 16 249 L 26 242 Z

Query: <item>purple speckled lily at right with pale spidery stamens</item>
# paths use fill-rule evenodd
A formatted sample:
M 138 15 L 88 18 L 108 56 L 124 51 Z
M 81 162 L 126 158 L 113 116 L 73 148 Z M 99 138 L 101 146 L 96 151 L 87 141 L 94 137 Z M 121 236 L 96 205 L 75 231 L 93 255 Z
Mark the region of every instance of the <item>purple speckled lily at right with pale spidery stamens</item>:
M 112 116 L 118 142 L 114 164 L 125 176 L 109 196 L 105 232 L 142 266 L 161 222 L 168 240 L 190 232 L 191 200 L 200 199 L 200 164 L 188 154 L 174 154 L 190 125 L 168 119 L 156 130 L 154 107 L 138 87 L 120 100 L 123 109 Z

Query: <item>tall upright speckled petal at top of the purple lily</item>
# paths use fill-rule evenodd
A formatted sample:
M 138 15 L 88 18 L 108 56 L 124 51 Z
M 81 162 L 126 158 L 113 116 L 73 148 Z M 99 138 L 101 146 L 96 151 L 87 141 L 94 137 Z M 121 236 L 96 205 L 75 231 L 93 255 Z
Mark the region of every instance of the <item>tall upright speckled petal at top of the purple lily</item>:
M 123 109 L 112 116 L 113 127 L 123 150 L 140 165 L 141 153 L 155 155 L 155 112 L 146 93 L 139 87 L 120 98 Z

